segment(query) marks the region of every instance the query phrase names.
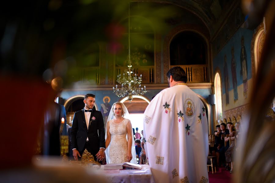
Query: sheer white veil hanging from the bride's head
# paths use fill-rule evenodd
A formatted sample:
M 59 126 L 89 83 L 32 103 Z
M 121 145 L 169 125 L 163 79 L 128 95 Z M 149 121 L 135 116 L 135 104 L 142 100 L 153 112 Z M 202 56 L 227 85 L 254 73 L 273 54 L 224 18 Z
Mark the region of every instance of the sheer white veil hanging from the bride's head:
M 117 103 L 117 102 L 116 102 L 116 103 Z M 114 115 L 114 106 L 115 106 L 116 103 L 113 104 L 113 106 L 112 106 L 112 108 L 111 108 L 111 111 L 110 111 L 110 113 L 109 113 L 108 119 L 107 119 L 107 123 L 106 123 L 106 126 L 105 126 L 105 129 L 106 129 L 106 131 L 105 131 L 105 140 L 107 139 L 107 124 L 109 123 L 110 120 L 114 119 L 114 117 L 115 117 L 115 115 Z M 125 106 L 123 103 L 120 103 L 120 102 L 119 102 L 119 104 L 121 104 L 122 110 L 125 112 L 124 118 L 127 119 L 127 115 L 129 116 L 128 109 L 126 108 L 126 106 Z M 132 130 L 132 129 L 131 129 L 131 132 L 132 132 L 132 141 L 133 141 L 133 142 L 132 142 L 132 156 L 133 156 L 133 158 L 132 158 L 132 160 L 130 161 L 130 163 L 135 163 L 135 164 L 137 164 L 135 140 L 134 140 L 134 134 L 133 134 L 133 130 Z M 127 135 L 126 135 L 126 139 L 127 139 L 127 141 L 128 141 Z M 107 162 L 107 163 L 110 163 L 110 158 L 109 158 L 109 147 L 110 147 L 110 145 L 111 145 L 111 142 L 112 142 L 112 137 L 111 137 L 111 141 L 110 141 L 109 146 L 108 146 L 108 147 L 106 148 L 106 150 L 105 150 L 106 162 Z

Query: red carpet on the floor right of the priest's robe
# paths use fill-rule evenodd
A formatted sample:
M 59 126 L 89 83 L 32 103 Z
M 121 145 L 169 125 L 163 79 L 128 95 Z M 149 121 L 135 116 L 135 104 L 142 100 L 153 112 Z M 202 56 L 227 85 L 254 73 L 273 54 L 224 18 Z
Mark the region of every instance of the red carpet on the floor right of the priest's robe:
M 209 183 L 231 183 L 233 174 L 230 174 L 225 167 L 217 167 L 217 173 L 212 174 L 211 167 L 209 167 L 208 172 Z

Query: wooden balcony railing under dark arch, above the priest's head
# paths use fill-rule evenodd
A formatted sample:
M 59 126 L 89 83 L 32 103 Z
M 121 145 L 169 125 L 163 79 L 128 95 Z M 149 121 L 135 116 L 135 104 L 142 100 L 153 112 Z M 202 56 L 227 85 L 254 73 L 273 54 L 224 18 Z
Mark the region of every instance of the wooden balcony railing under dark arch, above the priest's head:
M 171 65 L 170 68 L 180 66 L 187 75 L 187 82 L 208 82 L 207 65 Z

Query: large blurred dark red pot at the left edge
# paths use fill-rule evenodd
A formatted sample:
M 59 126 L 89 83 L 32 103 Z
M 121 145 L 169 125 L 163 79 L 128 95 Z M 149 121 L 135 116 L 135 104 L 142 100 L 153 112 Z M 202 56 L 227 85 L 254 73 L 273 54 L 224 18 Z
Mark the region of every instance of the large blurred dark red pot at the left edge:
M 39 129 L 44 113 L 55 92 L 50 85 L 38 79 L 0 77 L 2 102 L 0 111 L 5 117 L 2 130 L 0 168 L 28 166 L 35 153 Z M 14 110 L 20 112 L 14 113 Z M 5 121 L 5 122 L 4 122 Z

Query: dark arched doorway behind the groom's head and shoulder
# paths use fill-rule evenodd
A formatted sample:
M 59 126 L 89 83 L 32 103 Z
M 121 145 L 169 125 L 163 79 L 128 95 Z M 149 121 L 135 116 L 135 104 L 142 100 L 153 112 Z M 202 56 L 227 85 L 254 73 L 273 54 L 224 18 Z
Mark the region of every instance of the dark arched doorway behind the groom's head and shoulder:
M 68 98 L 65 103 L 64 107 L 66 109 L 66 117 L 67 123 L 71 126 L 71 121 L 74 117 L 75 112 L 84 108 L 84 95 L 75 95 L 73 97 Z M 97 104 L 94 105 L 94 108 L 98 110 Z

